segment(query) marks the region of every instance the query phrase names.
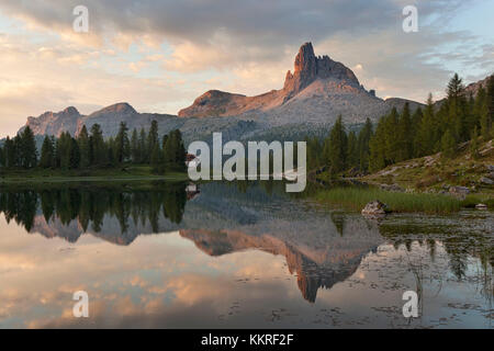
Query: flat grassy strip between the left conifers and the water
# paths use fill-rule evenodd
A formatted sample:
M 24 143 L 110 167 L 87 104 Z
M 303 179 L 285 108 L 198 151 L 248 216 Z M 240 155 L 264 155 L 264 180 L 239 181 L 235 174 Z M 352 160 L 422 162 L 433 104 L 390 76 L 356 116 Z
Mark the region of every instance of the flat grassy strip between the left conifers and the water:
M 124 166 L 85 170 L 9 170 L 0 173 L 0 184 L 11 183 L 60 183 L 60 182 L 119 182 L 119 181 L 186 181 L 184 172 L 155 174 L 149 166 Z

